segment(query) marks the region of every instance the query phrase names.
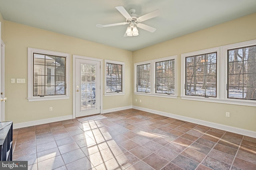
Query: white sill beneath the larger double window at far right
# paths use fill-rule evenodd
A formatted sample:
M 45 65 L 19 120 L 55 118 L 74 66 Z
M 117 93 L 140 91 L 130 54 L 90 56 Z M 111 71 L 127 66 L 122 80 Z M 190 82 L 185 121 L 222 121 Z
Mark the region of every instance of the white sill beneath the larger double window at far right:
M 256 107 L 256 101 L 238 100 L 238 99 L 217 99 L 217 98 L 204 98 L 197 96 L 180 96 L 183 100 L 194 100 L 201 102 L 212 102 L 212 103 L 222 103 L 222 104 L 234 104 L 242 106 L 254 106 Z

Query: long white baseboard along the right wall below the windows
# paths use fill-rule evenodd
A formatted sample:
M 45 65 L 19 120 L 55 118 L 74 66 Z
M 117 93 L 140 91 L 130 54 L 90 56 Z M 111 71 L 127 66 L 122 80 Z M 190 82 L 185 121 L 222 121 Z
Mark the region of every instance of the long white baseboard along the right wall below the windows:
M 237 127 L 222 125 L 222 124 L 213 123 L 213 122 L 209 122 L 209 121 L 203 121 L 203 120 L 199 120 L 199 119 L 193 119 L 193 118 L 190 118 L 190 117 L 185 117 L 185 116 L 180 116 L 180 115 L 174 115 L 174 114 L 166 113 L 166 112 L 162 112 L 162 111 L 146 109 L 144 107 L 132 106 L 132 108 L 142 110 L 142 111 L 147 111 L 147 112 L 158 114 L 158 115 L 163 115 L 163 116 L 166 116 L 166 117 L 171 117 L 171 118 L 174 118 L 174 119 L 188 121 L 188 122 L 191 122 L 191 123 L 196 123 L 196 124 L 199 124 L 199 125 L 204 125 L 204 126 L 224 130 L 224 131 L 229 131 L 229 132 L 237 133 L 237 134 L 240 134 L 240 135 L 245 135 L 245 136 L 256 138 L 256 132 L 255 131 L 240 129 L 240 128 L 237 128 Z

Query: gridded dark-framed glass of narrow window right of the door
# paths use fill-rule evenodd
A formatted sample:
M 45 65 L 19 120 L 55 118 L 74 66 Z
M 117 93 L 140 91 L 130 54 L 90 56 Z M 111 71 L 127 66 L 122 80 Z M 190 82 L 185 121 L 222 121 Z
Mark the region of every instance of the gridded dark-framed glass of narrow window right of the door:
M 122 64 L 106 63 L 106 93 L 122 92 Z

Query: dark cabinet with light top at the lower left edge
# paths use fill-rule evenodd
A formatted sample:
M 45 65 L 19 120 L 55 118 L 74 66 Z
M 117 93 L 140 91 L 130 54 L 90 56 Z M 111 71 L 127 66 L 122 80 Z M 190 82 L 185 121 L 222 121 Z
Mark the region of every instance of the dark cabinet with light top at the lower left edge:
M 0 122 L 1 161 L 12 160 L 12 121 Z

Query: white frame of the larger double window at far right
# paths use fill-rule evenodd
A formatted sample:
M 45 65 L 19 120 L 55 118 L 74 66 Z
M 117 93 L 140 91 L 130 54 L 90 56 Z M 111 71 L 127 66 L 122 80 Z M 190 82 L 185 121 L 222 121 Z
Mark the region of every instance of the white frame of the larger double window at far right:
M 202 102 L 214 102 L 223 104 L 234 104 L 242 106 L 256 106 L 255 100 L 244 100 L 244 99 L 232 99 L 228 98 L 228 90 L 226 85 L 228 83 L 228 50 L 237 49 L 242 47 L 248 47 L 256 45 L 256 40 L 245 41 L 241 43 L 234 43 L 230 45 L 224 45 L 220 47 L 204 49 L 200 51 L 193 51 L 191 53 L 181 54 L 181 84 L 180 84 L 180 97 L 184 100 L 195 100 Z M 186 82 L 186 57 L 201 55 L 206 53 L 217 52 L 217 93 L 214 98 L 205 98 L 204 96 L 189 96 L 186 95 L 184 84 Z

